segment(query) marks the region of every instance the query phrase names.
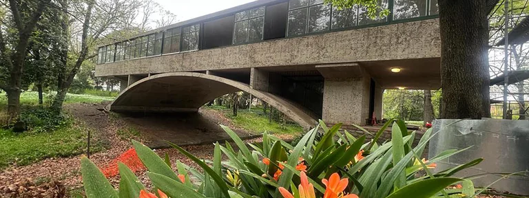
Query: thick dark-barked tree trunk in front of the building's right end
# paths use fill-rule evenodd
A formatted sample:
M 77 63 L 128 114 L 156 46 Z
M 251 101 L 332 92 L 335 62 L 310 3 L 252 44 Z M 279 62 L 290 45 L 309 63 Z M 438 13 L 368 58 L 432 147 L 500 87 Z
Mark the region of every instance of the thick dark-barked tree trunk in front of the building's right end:
M 439 0 L 441 118 L 490 117 L 487 15 L 482 0 Z

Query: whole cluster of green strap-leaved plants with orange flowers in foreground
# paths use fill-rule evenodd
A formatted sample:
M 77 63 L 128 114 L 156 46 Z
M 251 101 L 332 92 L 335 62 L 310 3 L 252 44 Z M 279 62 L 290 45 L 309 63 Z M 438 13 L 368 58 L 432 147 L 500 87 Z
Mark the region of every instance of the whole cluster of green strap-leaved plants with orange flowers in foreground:
M 475 197 L 479 194 L 473 181 L 454 177 L 454 174 L 479 164 L 483 159 L 433 174 L 428 170 L 430 166 L 464 149 L 444 151 L 429 161 L 421 160 L 419 156 L 435 135 L 431 129 L 424 133 L 417 146 L 412 147 L 415 131 L 408 131 L 404 122 L 397 121 L 391 129 L 391 141 L 377 144 L 378 137 L 389 123 L 393 123 L 393 120 L 387 122 L 371 141 L 366 141 L 366 135 L 354 137 L 347 131 L 340 131 L 341 124 L 329 129 L 320 122 L 295 145 L 267 133 L 263 134 L 262 142 L 245 144 L 234 131 L 222 126 L 236 146 L 229 142 L 224 145 L 217 142 L 212 162 L 198 159 L 180 146 L 167 142 L 198 164 L 204 170 L 203 173 L 180 162 L 176 162 L 178 173 L 174 173 L 167 155 L 162 159 L 147 146 L 135 141 L 132 144 L 147 167 L 147 176 L 155 189 L 172 198 L 279 198 L 284 195 L 279 188 L 290 190 L 294 197 L 301 198 L 305 197 L 301 193 L 301 185 L 299 189 L 295 186 L 300 184 L 300 175 L 305 174 L 311 188 L 315 188 L 313 193 L 316 197 L 331 195 L 329 191 L 336 190 L 336 186 L 328 186 L 330 180 L 329 183 L 322 182 L 322 179 L 336 174 L 349 180 L 349 183 L 342 186 L 344 191 L 335 194 L 335 197 L 347 194 L 362 198 Z M 320 140 L 315 138 L 318 133 L 323 134 Z M 141 190 L 146 190 L 136 175 L 123 164 L 119 165 L 121 181 L 118 192 L 90 159 L 81 159 L 81 170 L 88 198 L 136 198 L 140 196 Z M 426 174 L 419 172 L 422 170 Z M 446 189 L 454 184 L 460 184 L 462 188 Z M 307 189 L 303 191 L 308 192 Z

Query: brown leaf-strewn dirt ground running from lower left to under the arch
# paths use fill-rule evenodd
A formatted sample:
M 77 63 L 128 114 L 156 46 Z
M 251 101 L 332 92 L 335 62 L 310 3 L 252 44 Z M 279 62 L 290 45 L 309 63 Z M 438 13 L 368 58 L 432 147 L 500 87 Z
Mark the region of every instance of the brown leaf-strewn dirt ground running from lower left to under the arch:
M 73 115 L 76 122 L 82 122 L 87 128 L 92 129 L 92 133 L 98 133 L 103 144 L 107 145 L 107 150 L 94 153 L 90 156 L 92 162 L 99 167 L 105 167 L 112 159 L 115 159 L 123 152 L 132 148 L 129 140 L 123 140 L 116 132 L 135 127 L 141 132 L 141 141 L 149 146 L 163 146 L 162 140 L 175 142 L 176 144 L 200 144 L 201 142 L 211 142 L 216 139 L 228 137 L 220 129 L 218 124 L 225 124 L 233 128 L 233 124 L 222 113 L 214 110 L 203 110 L 197 115 L 185 117 L 183 115 L 158 115 L 156 117 L 145 118 L 138 115 L 116 116 L 112 113 L 99 111 L 103 104 L 68 104 L 65 109 Z M 241 136 L 251 135 L 242 129 L 234 130 Z M 203 146 L 184 146 L 184 148 L 200 158 L 211 159 L 213 146 L 211 144 Z M 180 160 L 186 164 L 191 164 L 187 157 L 178 153 L 175 149 L 157 149 L 156 153 L 165 155 L 167 153 L 173 162 Z M 12 166 L 0 173 L 0 197 L 10 197 L 2 194 L 13 184 L 25 181 L 60 181 L 67 189 L 80 188 L 81 170 L 80 156 L 50 158 L 28 166 Z M 145 173 L 140 173 L 140 179 L 149 183 L 145 178 Z M 111 179 L 113 184 L 118 184 L 118 176 Z

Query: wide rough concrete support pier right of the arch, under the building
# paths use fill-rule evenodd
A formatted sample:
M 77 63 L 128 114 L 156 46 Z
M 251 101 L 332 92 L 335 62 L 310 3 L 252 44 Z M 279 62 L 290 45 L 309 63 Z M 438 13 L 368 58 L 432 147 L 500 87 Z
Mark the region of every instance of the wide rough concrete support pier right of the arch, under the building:
M 366 123 L 369 116 L 371 78 L 326 78 L 323 88 L 322 119 L 328 123 Z

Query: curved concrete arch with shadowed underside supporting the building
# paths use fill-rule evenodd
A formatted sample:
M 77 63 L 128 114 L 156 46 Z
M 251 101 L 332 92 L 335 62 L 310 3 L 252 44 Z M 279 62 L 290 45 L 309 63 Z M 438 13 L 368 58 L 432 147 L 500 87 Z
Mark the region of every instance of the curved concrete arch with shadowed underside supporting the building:
M 302 109 L 265 91 L 251 89 L 234 80 L 193 72 L 156 74 L 138 80 L 107 105 L 109 111 L 178 112 L 198 111 L 219 96 L 246 91 L 278 109 L 305 129 L 316 124 Z

